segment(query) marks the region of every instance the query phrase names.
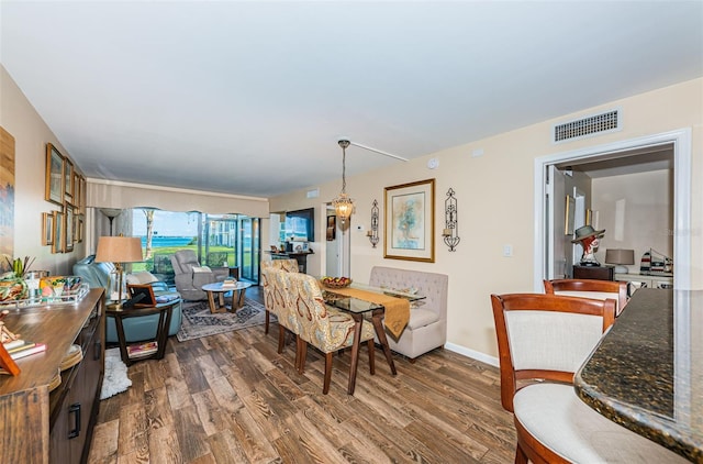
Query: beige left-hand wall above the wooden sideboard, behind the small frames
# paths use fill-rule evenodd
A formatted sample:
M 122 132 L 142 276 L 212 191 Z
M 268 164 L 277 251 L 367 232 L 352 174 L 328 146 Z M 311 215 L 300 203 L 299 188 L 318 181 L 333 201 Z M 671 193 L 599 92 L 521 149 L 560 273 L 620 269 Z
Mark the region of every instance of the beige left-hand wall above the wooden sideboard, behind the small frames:
M 41 242 L 42 212 L 58 209 L 58 206 L 44 200 L 46 144 L 53 143 L 69 158 L 70 153 L 62 146 L 2 66 L 0 125 L 14 136 L 15 142 L 14 255 L 36 257 L 32 266 L 35 270 L 71 274 L 72 264 L 85 255 L 85 244 L 77 243 L 71 253 L 52 254 L 52 247 L 42 246 Z M 75 162 L 74 166 L 80 170 Z

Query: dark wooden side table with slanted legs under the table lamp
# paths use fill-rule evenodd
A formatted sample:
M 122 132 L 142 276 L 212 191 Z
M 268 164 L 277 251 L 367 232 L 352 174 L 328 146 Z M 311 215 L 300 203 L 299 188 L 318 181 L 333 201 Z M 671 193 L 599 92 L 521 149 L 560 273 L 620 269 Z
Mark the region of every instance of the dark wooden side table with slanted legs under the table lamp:
M 132 363 L 142 361 L 156 358 L 164 358 L 164 354 L 166 352 L 166 343 L 168 342 L 168 328 L 171 324 L 171 314 L 174 311 L 174 307 L 180 305 L 180 298 L 175 299 L 172 301 L 159 303 L 152 307 L 146 308 L 129 308 L 129 309 L 107 309 L 105 312 L 108 316 L 114 318 L 115 328 L 118 330 L 118 341 L 120 343 L 120 356 L 122 357 L 122 362 L 130 366 Z M 126 336 L 124 335 L 124 325 L 123 320 L 129 318 L 141 318 L 143 316 L 158 314 L 158 323 L 156 325 L 156 336 L 152 341 L 155 341 L 157 344 L 156 351 L 146 354 L 146 355 L 137 355 L 133 354 L 130 356 L 129 346 L 140 345 L 148 342 L 148 340 L 144 340 L 136 343 L 127 343 Z

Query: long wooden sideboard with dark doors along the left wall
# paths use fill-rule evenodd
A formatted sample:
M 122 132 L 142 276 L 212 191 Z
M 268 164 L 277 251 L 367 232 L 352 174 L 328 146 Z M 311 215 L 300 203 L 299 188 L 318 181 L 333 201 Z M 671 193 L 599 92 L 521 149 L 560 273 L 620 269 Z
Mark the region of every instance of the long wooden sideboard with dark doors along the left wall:
M 47 349 L 19 360 L 18 376 L 0 375 L 0 462 L 87 461 L 104 373 L 103 291 L 92 289 L 76 303 L 11 310 L 4 319 L 23 340 Z M 49 393 L 72 344 L 82 361 L 63 371 Z

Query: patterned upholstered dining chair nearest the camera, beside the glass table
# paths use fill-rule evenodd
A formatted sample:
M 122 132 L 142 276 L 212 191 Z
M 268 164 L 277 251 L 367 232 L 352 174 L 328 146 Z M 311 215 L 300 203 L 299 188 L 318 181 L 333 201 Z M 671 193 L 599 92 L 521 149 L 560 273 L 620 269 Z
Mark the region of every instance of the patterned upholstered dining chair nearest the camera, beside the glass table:
M 327 307 L 322 298 L 317 280 L 306 274 L 281 273 L 287 283 L 287 305 L 292 307 L 298 318 L 298 371 L 303 373 L 308 344 L 312 344 L 325 355 L 325 374 L 322 393 L 330 391 L 332 379 L 332 355 L 334 352 L 349 347 L 354 343 L 355 321 L 352 316 Z M 375 373 L 373 325 L 361 321 L 361 342 L 367 342 L 369 350 L 369 368 Z M 352 366 L 349 366 L 352 369 Z M 352 372 L 349 372 L 352 375 Z

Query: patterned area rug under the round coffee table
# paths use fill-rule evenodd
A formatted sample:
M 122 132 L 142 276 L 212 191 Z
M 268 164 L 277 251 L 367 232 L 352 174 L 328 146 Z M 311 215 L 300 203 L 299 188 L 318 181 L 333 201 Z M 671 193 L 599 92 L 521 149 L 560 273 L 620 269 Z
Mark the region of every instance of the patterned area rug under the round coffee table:
M 182 306 L 183 319 L 176 338 L 179 342 L 232 332 L 266 321 L 266 309 L 258 301 L 244 299 L 242 309 L 236 312 L 210 312 L 208 301 L 186 301 Z M 274 317 L 271 316 L 274 320 Z

